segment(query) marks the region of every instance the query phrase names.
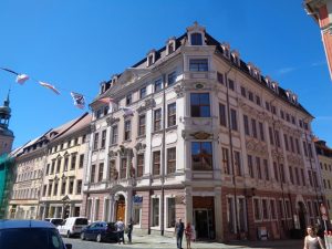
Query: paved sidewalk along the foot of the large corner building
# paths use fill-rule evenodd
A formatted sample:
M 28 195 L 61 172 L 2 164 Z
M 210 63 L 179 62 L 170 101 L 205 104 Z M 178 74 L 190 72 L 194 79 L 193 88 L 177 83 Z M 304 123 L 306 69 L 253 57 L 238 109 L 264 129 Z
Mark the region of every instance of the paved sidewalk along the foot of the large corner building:
M 166 237 L 158 235 L 133 235 L 133 243 L 127 245 L 131 248 L 176 248 L 175 237 Z M 302 240 L 267 240 L 267 241 L 232 241 L 229 243 L 221 242 L 205 242 L 196 241 L 191 242 L 193 249 L 215 249 L 215 248 L 228 248 L 228 249 L 249 249 L 249 248 L 261 248 L 261 249 L 295 249 L 302 248 Z M 183 248 L 187 248 L 186 239 L 183 240 Z

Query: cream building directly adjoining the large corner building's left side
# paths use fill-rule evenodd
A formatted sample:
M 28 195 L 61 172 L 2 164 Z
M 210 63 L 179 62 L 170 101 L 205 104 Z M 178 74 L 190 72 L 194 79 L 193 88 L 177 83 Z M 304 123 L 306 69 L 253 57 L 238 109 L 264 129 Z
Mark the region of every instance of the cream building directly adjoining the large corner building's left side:
M 41 218 L 80 216 L 91 115 L 85 113 L 50 132 L 39 199 Z

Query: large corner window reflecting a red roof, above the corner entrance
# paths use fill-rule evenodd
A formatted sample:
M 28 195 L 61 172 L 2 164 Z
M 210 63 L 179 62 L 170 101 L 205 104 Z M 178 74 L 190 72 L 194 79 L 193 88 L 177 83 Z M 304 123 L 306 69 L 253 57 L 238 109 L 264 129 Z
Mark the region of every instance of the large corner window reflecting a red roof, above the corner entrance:
M 191 142 L 191 167 L 194 170 L 212 169 L 211 142 Z

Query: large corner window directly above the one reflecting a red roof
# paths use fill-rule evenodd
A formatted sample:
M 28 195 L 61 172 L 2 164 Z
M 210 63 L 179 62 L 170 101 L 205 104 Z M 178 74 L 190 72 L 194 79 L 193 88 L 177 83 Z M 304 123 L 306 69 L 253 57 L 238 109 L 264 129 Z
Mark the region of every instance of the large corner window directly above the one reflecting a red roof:
M 190 94 L 190 112 L 193 117 L 210 116 L 210 97 L 208 93 Z

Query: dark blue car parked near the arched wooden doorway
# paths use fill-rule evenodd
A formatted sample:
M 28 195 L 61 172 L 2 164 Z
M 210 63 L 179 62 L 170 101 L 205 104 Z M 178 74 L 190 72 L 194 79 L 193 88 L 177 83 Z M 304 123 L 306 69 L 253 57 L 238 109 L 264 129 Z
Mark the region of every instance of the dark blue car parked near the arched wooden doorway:
M 81 231 L 82 240 L 116 241 L 118 240 L 115 222 L 96 221 Z

